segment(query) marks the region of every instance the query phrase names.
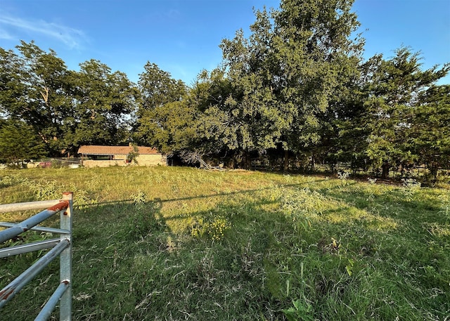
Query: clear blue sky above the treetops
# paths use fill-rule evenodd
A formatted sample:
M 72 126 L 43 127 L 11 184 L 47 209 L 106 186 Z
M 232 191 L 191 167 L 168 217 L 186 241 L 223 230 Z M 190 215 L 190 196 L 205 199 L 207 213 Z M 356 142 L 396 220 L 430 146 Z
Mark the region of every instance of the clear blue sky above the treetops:
M 0 0 L 0 47 L 34 40 L 68 68 L 100 60 L 137 81 L 147 61 L 192 84 L 221 63 L 221 39 L 255 21 L 253 7 L 279 0 Z M 365 58 L 410 46 L 423 68 L 450 62 L 449 0 L 356 0 Z M 439 84 L 450 84 L 450 76 Z

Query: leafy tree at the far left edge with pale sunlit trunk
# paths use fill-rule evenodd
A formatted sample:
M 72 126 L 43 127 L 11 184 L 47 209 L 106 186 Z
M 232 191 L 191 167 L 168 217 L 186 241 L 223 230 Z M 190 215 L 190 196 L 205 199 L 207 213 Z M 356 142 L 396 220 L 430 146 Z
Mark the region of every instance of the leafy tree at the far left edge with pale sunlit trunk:
M 68 70 L 50 49 L 21 41 L 20 55 L 1 49 L 1 112 L 33 126 L 52 154 L 60 152 L 62 129 L 70 111 Z

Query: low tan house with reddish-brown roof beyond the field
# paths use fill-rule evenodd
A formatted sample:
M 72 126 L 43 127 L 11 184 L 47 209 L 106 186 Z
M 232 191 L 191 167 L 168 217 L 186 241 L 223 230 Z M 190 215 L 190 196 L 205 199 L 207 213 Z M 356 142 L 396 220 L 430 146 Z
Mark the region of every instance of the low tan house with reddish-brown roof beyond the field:
M 82 165 L 85 167 L 127 166 L 135 162 L 131 160 L 133 146 L 101 146 L 83 145 L 79 148 Z M 140 166 L 167 165 L 167 156 L 155 148 L 138 146 L 136 162 Z

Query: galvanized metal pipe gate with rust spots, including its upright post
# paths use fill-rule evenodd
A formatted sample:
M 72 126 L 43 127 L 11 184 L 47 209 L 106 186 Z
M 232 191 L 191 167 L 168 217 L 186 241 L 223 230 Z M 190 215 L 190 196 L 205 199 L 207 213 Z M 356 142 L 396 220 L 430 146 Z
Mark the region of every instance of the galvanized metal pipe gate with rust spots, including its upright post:
M 0 290 L 0 309 L 8 301 L 13 299 L 13 296 L 23 289 L 41 270 L 48 266 L 53 259 L 60 256 L 60 284 L 34 320 L 47 320 L 58 304 L 58 301 L 60 302 L 60 320 L 72 320 L 72 192 L 64 192 L 62 199 L 1 204 L 0 213 L 43 208 L 46 209 L 27 218 L 21 223 L 0 222 L 0 226 L 6 227 L 6 230 L 0 231 L 0 243 L 11 240 L 27 230 L 51 232 L 60 235 L 59 238 L 52 240 L 32 242 L 0 249 L 0 258 L 4 258 L 51 248 L 50 251 L 39 258 L 30 268 L 27 268 L 25 272 L 16 277 L 4 289 Z M 60 212 L 60 228 L 37 226 L 58 212 Z

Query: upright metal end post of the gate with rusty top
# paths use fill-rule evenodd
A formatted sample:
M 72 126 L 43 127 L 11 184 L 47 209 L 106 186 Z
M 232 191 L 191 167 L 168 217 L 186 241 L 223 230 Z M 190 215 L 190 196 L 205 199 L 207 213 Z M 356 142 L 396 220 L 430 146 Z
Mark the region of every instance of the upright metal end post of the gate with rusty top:
M 64 192 L 63 199 L 69 201 L 65 211 L 60 212 L 60 228 L 68 230 L 67 234 L 61 234 L 60 240 L 68 240 L 69 246 L 60 254 L 60 283 L 68 284 L 60 299 L 60 320 L 72 320 L 72 202 L 73 192 Z

